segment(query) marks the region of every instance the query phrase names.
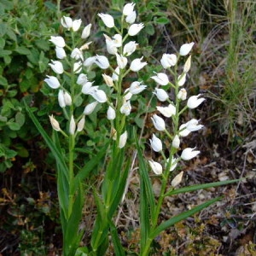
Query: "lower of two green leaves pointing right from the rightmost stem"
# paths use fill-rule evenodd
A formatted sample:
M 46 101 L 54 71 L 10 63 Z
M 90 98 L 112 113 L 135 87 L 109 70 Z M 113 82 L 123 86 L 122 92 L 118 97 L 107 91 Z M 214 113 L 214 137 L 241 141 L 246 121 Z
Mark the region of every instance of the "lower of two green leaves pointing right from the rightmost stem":
M 160 234 L 160 232 L 172 227 L 174 224 L 177 224 L 177 222 L 188 218 L 189 216 L 195 214 L 196 212 L 201 212 L 201 210 L 203 210 L 206 207 L 211 206 L 213 203 L 215 203 L 216 201 L 219 201 L 222 197 L 218 197 L 218 198 L 214 198 L 212 200 L 209 200 L 203 204 L 201 204 L 200 206 L 194 207 L 193 209 L 187 211 L 187 212 L 182 212 L 180 214 L 178 214 L 177 216 L 170 218 L 168 220 L 166 220 L 164 223 L 160 224 L 155 230 L 154 232 L 152 232 L 150 234 L 150 237 L 152 239 L 154 239 L 154 237 L 158 236 Z

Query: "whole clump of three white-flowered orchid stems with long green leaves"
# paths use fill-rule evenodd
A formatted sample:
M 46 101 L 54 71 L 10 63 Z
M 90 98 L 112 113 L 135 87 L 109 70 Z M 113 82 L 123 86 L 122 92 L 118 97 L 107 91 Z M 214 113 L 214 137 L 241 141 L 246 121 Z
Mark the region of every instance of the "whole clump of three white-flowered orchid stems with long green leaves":
M 102 54 L 85 58 L 85 53 L 90 49 L 92 43 L 87 41 L 90 38 L 91 24 L 82 30 L 82 20 L 73 20 L 67 16 L 61 18 L 64 35 L 68 38 L 68 42 L 71 42 L 71 45 L 68 45 L 66 38 L 62 36 L 50 37 L 49 41 L 55 46 L 57 60 L 52 60 L 49 63 L 54 75 L 48 75 L 44 82 L 55 92 L 63 117 L 67 122 L 66 128 L 61 127 L 63 122 L 60 124 L 52 114 L 49 115 L 49 121 L 53 128 L 53 137 L 50 138 L 32 110 L 26 105 L 27 112 L 55 155 L 63 233 L 63 255 L 65 256 L 105 255 L 108 251 L 109 234 L 116 255 L 125 255 L 125 248 L 122 247 L 119 240 L 113 217 L 125 195 L 131 165 L 131 157 L 125 154 L 125 150 L 128 148 L 127 140 L 133 139 L 131 132 L 127 130 L 132 110 L 131 100 L 147 89 L 147 85 L 139 79 L 139 72 L 148 64 L 143 61 L 143 56 L 133 57 L 138 46 L 133 38 L 144 27 L 143 23 L 136 23 L 137 13 L 134 7 L 135 3 L 126 3 L 120 11 L 119 22 L 114 20 L 111 15 L 98 14 L 106 26 L 104 39 L 109 57 Z M 200 153 L 195 148 L 184 148 L 182 154 L 177 156 L 177 150 L 181 148 L 182 138 L 189 136 L 190 132 L 201 130 L 203 127 L 200 120 L 197 119 L 191 119 L 185 124 L 180 124 L 180 117 L 187 109 L 197 108 L 205 101 L 201 95 L 190 96 L 187 100 L 187 91 L 183 88 L 191 66 L 191 56 L 185 61 L 183 72 L 177 73 L 178 61 L 183 56 L 189 55 L 193 45 L 194 43 L 183 44 L 178 54 L 164 54 L 160 63 L 165 72 L 155 73 L 151 77 L 158 84 L 153 92 L 154 96 L 166 104 L 156 107 L 162 117 L 155 113 L 152 116 L 152 121 L 160 135 L 153 134 L 150 139 L 152 149 L 159 152 L 162 159 L 149 160 L 147 163 L 143 158 L 141 145 L 135 136 L 141 186 L 140 252 L 144 256 L 150 253 L 152 241 L 162 230 L 218 200 L 208 201 L 159 224 L 160 209 L 166 196 L 229 183 L 210 183 L 177 189 L 183 178 L 183 172 L 176 171 L 177 164 L 181 160 L 191 160 Z M 102 74 L 102 84 L 95 85 L 95 81 L 89 79 L 90 71 L 93 68 L 96 69 L 96 73 Z M 129 80 L 127 79 L 128 76 Z M 125 88 L 124 84 L 127 84 L 131 77 L 133 80 Z M 170 77 L 172 77 L 171 81 Z M 172 101 L 169 96 L 170 90 L 174 92 Z M 84 102 L 86 102 L 85 106 Z M 107 106 L 106 118 L 111 126 L 109 142 L 85 166 L 80 167 L 75 163 L 76 144 L 79 141 L 79 136 L 85 132 L 86 116 L 93 113 L 99 104 Z M 82 111 L 81 108 L 83 108 Z M 166 119 L 171 119 L 172 125 L 170 127 L 166 125 Z M 64 137 L 67 151 L 61 148 L 59 136 Z M 167 148 L 168 156 L 164 153 L 166 152 L 164 148 L 170 144 L 167 142 L 171 142 L 170 148 Z M 106 166 L 103 167 L 104 177 L 101 189 L 94 189 L 97 216 L 91 233 L 90 246 L 80 247 L 84 235 L 84 230 L 80 227 L 86 192 L 83 185 L 84 178 L 89 176 L 90 172 L 96 168 L 99 160 L 104 157 L 108 160 Z M 154 197 L 148 168 L 160 177 L 160 197 L 157 200 Z

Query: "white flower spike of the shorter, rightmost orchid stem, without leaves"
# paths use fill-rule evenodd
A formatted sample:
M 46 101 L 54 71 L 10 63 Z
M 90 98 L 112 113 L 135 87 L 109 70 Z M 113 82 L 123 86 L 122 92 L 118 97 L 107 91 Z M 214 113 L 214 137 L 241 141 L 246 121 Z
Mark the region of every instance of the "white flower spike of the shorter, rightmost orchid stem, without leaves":
M 182 154 L 175 158 L 175 154 L 177 152 L 177 149 L 180 148 L 180 140 L 181 137 L 186 137 L 189 135 L 192 131 L 199 131 L 203 127 L 203 125 L 200 125 L 200 120 L 197 119 L 191 119 L 189 122 L 179 125 L 179 116 L 183 111 L 185 111 L 187 108 L 193 109 L 197 108 L 201 102 L 205 101 L 205 98 L 202 98 L 201 95 L 197 96 L 190 96 L 187 100 L 187 91 L 182 88 L 183 84 L 185 84 L 187 73 L 189 72 L 190 66 L 191 66 L 191 56 L 189 55 L 187 61 L 185 61 L 185 64 L 183 66 L 183 73 L 177 74 L 176 72 L 172 71 L 172 67 L 177 66 L 177 61 L 181 56 L 186 56 L 189 54 L 190 50 L 192 49 L 194 43 L 190 44 L 183 44 L 179 50 L 179 53 L 177 55 L 175 54 L 164 54 L 162 55 L 162 58 L 160 60 L 161 66 L 166 69 L 167 71 L 170 71 L 174 75 L 174 83 L 172 83 L 169 80 L 169 77 L 166 73 L 155 73 L 154 76 L 151 77 L 151 79 L 154 79 L 154 81 L 161 86 L 161 88 L 155 88 L 154 95 L 158 98 L 160 102 L 168 102 L 167 106 L 157 106 L 157 111 L 163 115 L 165 118 L 171 118 L 172 119 L 172 134 L 166 130 L 166 121 L 162 117 L 160 117 L 158 114 L 154 114 L 151 119 L 154 124 L 154 128 L 157 131 L 165 132 L 166 136 L 172 140 L 171 148 L 170 148 L 170 158 L 166 159 L 165 154 L 163 153 L 163 143 L 160 140 L 159 137 L 156 137 L 155 134 L 153 134 L 152 139 L 150 139 L 150 145 L 151 148 L 155 152 L 160 152 L 165 160 L 165 169 L 169 171 L 173 171 L 176 166 L 177 162 L 179 160 L 191 160 L 196 155 L 200 154 L 199 150 L 195 150 L 195 148 L 184 148 L 182 151 Z M 177 68 L 175 68 L 175 71 Z M 168 89 L 172 88 L 174 90 L 175 94 L 175 102 L 172 102 L 170 100 Z M 183 107 L 183 109 L 179 109 L 181 102 L 187 100 L 186 105 Z M 154 160 L 148 161 L 149 166 L 153 170 L 153 172 L 156 175 L 162 175 L 166 172 L 163 172 L 163 166 Z M 168 171 L 168 172 L 169 172 Z M 167 173 L 168 177 L 168 173 Z M 177 174 L 176 177 L 172 180 L 172 187 L 176 187 L 178 183 L 182 181 L 183 172 L 180 172 Z

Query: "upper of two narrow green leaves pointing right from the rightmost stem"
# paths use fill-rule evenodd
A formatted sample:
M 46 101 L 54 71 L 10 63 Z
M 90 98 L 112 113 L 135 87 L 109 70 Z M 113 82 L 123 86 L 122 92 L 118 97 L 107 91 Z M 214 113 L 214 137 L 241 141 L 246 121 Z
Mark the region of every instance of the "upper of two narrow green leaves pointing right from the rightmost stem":
M 177 195 L 177 194 L 186 193 L 186 192 L 192 192 L 192 191 L 199 190 L 199 189 L 209 189 L 209 188 L 218 187 L 218 186 L 222 186 L 222 185 L 226 185 L 226 184 L 230 184 L 230 183 L 236 183 L 239 181 L 241 181 L 241 179 L 224 180 L 224 181 L 216 182 L 216 183 L 205 183 L 205 184 L 193 185 L 193 186 L 189 186 L 189 187 L 185 187 L 185 188 L 181 188 L 181 189 L 173 189 L 173 190 L 168 191 L 165 196 Z

